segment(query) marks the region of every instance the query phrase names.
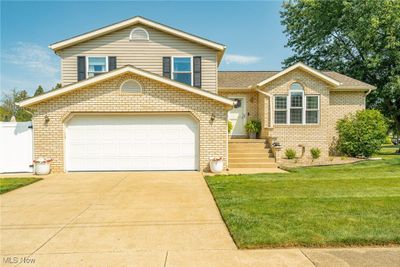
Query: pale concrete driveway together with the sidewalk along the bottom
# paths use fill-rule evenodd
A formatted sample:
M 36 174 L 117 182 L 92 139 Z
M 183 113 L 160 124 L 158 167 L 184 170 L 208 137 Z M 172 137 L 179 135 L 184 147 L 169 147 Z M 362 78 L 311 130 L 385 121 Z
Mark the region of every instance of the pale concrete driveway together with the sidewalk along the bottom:
M 398 248 L 237 250 L 197 172 L 51 175 L 2 195 L 0 218 L 2 266 L 400 263 Z

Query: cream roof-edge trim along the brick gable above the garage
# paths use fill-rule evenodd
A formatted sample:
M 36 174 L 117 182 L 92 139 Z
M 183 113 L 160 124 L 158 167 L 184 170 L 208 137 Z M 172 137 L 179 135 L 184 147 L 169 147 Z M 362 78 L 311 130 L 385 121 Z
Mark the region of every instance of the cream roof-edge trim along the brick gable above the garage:
M 211 92 L 208 92 L 208 91 L 205 91 L 205 90 L 202 90 L 202 89 L 199 89 L 199 88 L 196 88 L 196 87 L 184 84 L 184 83 L 180 83 L 180 82 L 165 78 L 163 76 L 160 76 L 160 75 L 154 74 L 152 72 L 148 72 L 148 71 L 133 67 L 131 65 L 126 65 L 124 67 L 112 70 L 110 72 L 106 72 L 106 73 L 103 73 L 101 75 L 96 75 L 94 77 L 91 77 L 91 78 L 83 80 L 83 81 L 79 81 L 79 82 L 76 82 L 76 83 L 73 83 L 73 84 L 69 84 L 69 85 L 67 85 L 65 87 L 62 87 L 62 88 L 57 89 L 55 91 L 50 91 L 50 92 L 45 93 L 43 95 L 38 95 L 38 96 L 35 96 L 35 97 L 31 97 L 31 98 L 25 99 L 25 100 L 17 103 L 17 105 L 19 105 L 21 107 L 31 106 L 33 104 L 37 104 L 39 102 L 48 100 L 50 98 L 53 98 L 53 97 L 56 97 L 56 96 L 60 96 L 60 95 L 66 94 L 66 93 L 70 93 L 70 92 L 72 92 L 74 90 L 77 90 L 77 89 L 80 89 L 82 87 L 89 86 L 89 85 L 92 85 L 92 84 L 95 84 L 95 83 L 98 83 L 98 82 L 102 82 L 104 80 L 108 80 L 108 79 L 111 79 L 111 78 L 116 77 L 118 75 L 125 74 L 125 73 L 137 74 L 137 75 L 140 75 L 142 77 L 146 77 L 146 78 L 149 78 L 149 79 L 152 79 L 152 80 L 155 80 L 155 81 L 158 81 L 158 82 L 161 82 L 161 83 L 164 83 L 164 84 L 171 85 L 173 87 L 182 89 L 184 91 L 187 91 L 187 92 L 190 92 L 190 93 L 194 93 L 194 94 L 197 94 L 197 95 L 200 95 L 200 96 L 203 96 L 203 97 L 206 97 L 206 98 L 221 102 L 221 103 L 223 103 L 225 105 L 233 106 L 233 100 L 230 100 L 230 99 L 225 98 L 223 96 L 219 96 L 217 94 L 213 94 Z

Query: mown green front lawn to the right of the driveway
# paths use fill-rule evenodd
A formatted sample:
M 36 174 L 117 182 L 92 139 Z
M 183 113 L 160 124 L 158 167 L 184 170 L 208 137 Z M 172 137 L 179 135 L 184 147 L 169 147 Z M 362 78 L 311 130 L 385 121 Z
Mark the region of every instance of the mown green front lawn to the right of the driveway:
M 206 177 L 239 248 L 400 244 L 400 156 Z

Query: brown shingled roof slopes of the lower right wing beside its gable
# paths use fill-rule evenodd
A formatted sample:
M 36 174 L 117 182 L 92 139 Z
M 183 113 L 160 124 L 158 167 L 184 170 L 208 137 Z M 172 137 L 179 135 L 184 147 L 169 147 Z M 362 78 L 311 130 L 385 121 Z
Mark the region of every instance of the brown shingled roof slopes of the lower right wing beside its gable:
M 303 64 L 304 65 L 304 64 Z M 257 84 L 276 77 L 275 75 L 282 71 L 219 71 L 218 72 L 218 88 L 219 89 L 246 89 L 256 87 Z M 339 83 L 334 86 L 335 90 L 374 90 L 374 86 L 353 79 L 349 76 L 334 71 L 318 71 Z

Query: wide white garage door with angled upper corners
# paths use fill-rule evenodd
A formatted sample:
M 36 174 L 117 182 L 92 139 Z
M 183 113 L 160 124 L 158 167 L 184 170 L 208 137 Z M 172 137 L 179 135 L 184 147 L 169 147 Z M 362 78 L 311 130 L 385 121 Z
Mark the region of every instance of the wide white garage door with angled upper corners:
M 67 171 L 197 170 L 189 115 L 82 115 L 66 127 Z

